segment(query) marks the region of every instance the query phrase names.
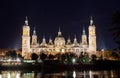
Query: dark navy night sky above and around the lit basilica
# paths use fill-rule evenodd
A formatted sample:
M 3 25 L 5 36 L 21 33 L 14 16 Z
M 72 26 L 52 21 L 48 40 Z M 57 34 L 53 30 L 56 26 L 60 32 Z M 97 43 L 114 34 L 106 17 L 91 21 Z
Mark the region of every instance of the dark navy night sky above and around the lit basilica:
M 73 1 L 73 2 L 72 2 Z M 4 0 L 0 2 L 0 48 L 21 47 L 22 26 L 28 17 L 31 32 L 36 27 L 38 39 L 48 41 L 57 36 L 61 28 L 65 39 L 74 35 L 81 40 L 83 26 L 88 34 L 90 16 L 93 16 L 97 31 L 98 49 L 111 49 L 116 45 L 112 40 L 112 14 L 120 11 L 120 0 Z M 32 34 L 31 34 L 32 35 Z

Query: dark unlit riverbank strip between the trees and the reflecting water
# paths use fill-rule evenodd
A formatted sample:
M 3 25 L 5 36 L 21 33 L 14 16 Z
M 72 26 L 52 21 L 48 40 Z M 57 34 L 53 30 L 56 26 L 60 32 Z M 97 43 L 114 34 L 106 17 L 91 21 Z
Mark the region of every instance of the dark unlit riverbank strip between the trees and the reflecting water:
M 37 71 L 71 71 L 71 70 L 120 70 L 119 61 L 96 61 L 91 64 L 56 64 L 50 61 L 40 64 L 22 64 L 0 66 L 0 70 L 37 70 Z

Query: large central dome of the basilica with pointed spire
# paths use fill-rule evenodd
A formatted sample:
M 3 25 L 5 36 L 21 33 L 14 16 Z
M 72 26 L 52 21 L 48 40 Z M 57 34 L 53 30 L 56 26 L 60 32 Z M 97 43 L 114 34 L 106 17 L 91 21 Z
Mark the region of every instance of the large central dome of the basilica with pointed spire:
M 59 32 L 58 32 L 58 36 L 55 38 L 54 43 L 55 43 L 56 47 L 63 47 L 63 46 L 65 46 L 65 39 L 62 36 L 62 33 L 61 33 L 60 29 L 59 29 Z

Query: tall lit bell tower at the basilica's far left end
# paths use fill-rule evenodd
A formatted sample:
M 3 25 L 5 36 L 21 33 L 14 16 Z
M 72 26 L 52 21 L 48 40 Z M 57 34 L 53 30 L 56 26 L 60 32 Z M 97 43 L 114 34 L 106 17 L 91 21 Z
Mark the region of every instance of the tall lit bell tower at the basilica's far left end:
M 22 56 L 27 59 L 27 53 L 30 52 L 30 27 L 28 26 L 28 19 L 26 17 L 25 24 L 22 31 Z

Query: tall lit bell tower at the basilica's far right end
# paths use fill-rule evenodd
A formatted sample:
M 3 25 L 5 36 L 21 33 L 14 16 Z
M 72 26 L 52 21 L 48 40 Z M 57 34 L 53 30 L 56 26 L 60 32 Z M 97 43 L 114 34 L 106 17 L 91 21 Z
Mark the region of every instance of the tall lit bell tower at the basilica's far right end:
M 96 28 L 93 24 L 93 19 L 91 16 L 90 25 L 89 25 L 89 50 L 96 52 Z

